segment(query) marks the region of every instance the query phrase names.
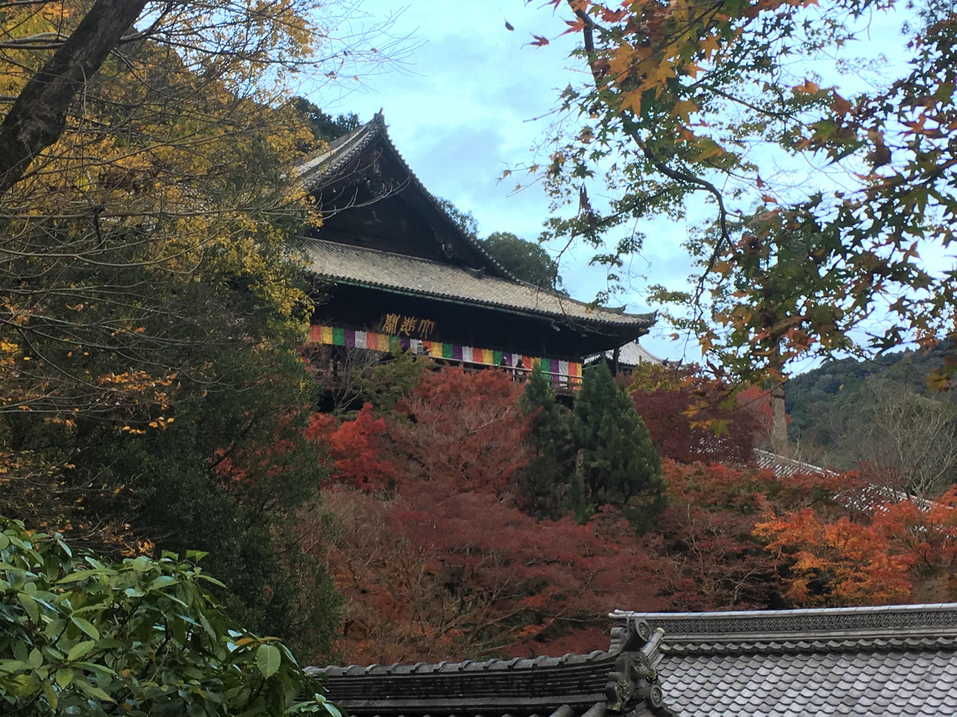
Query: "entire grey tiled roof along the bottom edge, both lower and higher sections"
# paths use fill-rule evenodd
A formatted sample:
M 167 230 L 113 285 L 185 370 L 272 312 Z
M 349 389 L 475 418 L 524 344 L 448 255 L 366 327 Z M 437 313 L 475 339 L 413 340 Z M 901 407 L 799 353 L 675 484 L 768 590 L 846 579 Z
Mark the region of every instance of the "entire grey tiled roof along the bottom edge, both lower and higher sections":
M 353 717 L 957 715 L 957 603 L 611 617 L 588 655 L 310 670 Z

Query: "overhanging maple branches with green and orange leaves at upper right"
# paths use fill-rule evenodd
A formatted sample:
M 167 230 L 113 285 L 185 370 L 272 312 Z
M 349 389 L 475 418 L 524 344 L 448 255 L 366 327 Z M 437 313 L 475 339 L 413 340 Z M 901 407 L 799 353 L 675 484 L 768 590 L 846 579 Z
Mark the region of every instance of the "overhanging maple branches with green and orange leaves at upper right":
M 615 272 L 640 249 L 635 221 L 680 220 L 706 198 L 710 219 L 687 244 L 694 289 L 654 295 L 678 302 L 716 367 L 751 383 L 779 382 L 793 359 L 953 335 L 954 276 L 922 261 L 957 229 L 952 2 L 914 4 L 904 36 L 886 38 L 900 73 L 860 88 L 848 80 L 872 68 L 846 55 L 868 32 L 860 18 L 896 4 L 546 5 L 567 11 L 589 71 L 561 95 L 550 156 L 526 167 L 556 206 L 578 206 L 556 212 L 555 238 Z M 855 71 L 828 86 L 819 62 Z M 955 371 L 949 361 L 938 384 Z

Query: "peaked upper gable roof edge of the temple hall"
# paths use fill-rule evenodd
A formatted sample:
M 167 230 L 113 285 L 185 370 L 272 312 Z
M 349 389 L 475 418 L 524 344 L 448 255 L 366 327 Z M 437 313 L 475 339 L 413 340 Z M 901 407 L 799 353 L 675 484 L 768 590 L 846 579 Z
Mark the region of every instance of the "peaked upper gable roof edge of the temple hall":
M 426 198 L 435 212 L 441 215 L 449 230 L 455 233 L 459 241 L 468 245 L 482 256 L 490 266 L 501 276 L 515 279 L 507 269 L 501 266 L 496 259 L 482 247 L 476 239 L 462 230 L 449 213 L 438 204 L 432 192 L 426 189 L 415 173 L 412 167 L 406 162 L 402 153 L 392 143 L 389 137 L 389 127 L 386 124 L 386 116 L 380 110 L 371 120 L 361 127 L 352 130 L 348 135 L 333 141 L 328 147 L 320 150 L 314 157 L 306 160 L 298 166 L 298 171 L 307 191 L 313 192 L 321 189 L 324 185 L 331 184 L 336 177 L 345 169 L 349 163 L 357 160 L 363 152 L 371 147 L 375 142 L 381 141 L 389 150 L 393 158 L 399 163 L 408 175 L 409 184 Z

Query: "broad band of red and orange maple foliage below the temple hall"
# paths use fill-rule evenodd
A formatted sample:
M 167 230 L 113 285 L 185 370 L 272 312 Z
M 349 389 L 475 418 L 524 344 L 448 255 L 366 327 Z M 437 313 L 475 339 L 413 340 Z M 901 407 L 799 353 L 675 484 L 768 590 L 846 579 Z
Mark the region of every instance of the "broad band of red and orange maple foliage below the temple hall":
M 610 506 L 584 524 L 530 515 L 516 494 L 531 451 L 520 393 L 493 371 L 429 371 L 396 411 L 314 417 L 332 470 L 300 537 L 347 601 L 347 662 L 588 652 L 607 647 L 616 607 L 881 604 L 957 588 L 957 493 L 885 504 L 857 473 L 781 477 L 731 449 L 734 467 L 664 459 L 668 505 L 650 532 Z M 685 435 L 664 445 L 693 445 L 688 424 L 670 430 Z

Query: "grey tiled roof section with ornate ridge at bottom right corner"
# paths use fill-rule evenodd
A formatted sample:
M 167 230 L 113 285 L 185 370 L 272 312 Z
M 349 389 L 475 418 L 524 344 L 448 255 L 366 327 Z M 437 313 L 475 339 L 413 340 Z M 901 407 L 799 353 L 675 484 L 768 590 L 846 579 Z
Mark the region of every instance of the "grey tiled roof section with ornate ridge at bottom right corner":
M 957 715 L 957 604 L 612 617 L 664 630 L 682 717 Z

